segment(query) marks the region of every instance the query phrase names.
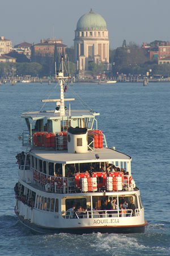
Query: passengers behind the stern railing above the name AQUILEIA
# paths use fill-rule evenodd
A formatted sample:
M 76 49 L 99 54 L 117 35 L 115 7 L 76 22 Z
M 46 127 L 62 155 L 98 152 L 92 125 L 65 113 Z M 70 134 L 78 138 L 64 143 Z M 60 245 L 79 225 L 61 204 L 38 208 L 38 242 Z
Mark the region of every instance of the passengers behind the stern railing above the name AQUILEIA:
M 66 218 L 87 218 L 87 211 L 89 212 L 89 216 L 93 216 L 94 218 L 103 217 L 105 211 L 107 211 L 108 217 L 116 217 L 118 213 L 119 217 L 135 216 L 135 205 L 133 200 L 130 200 L 128 203 L 125 198 L 122 197 L 119 199 L 119 202 L 120 203 L 117 204 L 117 199 L 109 197 L 109 201 L 104 202 L 100 209 L 97 209 L 97 207 L 92 209 L 93 214 L 89 208 L 83 208 L 82 206 L 76 207 L 73 205 L 73 207 L 66 211 Z M 99 210 L 99 212 L 97 212 L 97 210 Z

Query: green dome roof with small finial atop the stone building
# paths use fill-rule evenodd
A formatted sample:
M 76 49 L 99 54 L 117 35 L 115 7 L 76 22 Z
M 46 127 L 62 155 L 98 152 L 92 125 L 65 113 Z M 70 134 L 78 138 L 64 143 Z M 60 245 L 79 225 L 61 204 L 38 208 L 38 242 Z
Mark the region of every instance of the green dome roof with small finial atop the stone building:
M 107 24 L 101 15 L 94 13 L 91 9 L 90 13 L 79 18 L 76 30 L 107 30 Z

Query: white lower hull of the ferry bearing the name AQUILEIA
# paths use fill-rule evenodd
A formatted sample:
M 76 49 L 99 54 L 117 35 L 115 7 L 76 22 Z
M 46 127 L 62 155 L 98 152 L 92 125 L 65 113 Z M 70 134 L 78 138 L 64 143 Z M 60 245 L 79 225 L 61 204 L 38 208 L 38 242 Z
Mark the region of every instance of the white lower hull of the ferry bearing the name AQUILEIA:
M 135 217 L 63 218 L 61 214 L 40 212 L 18 201 L 15 214 L 34 232 L 52 233 L 144 233 L 147 221 L 143 211 Z M 110 215 L 111 216 L 111 215 Z

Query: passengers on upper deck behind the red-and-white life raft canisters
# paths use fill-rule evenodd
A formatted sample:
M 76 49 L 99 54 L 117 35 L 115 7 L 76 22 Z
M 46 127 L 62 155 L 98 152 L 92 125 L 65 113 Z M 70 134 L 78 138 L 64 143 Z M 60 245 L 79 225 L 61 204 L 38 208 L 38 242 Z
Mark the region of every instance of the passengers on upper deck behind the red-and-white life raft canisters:
M 129 172 L 125 171 L 124 168 L 119 168 L 114 166 L 114 164 L 106 163 L 106 166 L 104 166 L 104 163 L 86 163 L 83 164 L 83 168 L 81 168 L 80 173 L 87 173 L 92 176 L 92 172 L 105 172 L 107 176 L 109 175 L 109 172 L 123 172 L 124 175 L 129 175 Z M 76 166 L 74 164 L 66 164 L 65 167 L 65 177 L 75 177 L 76 174 L 78 174 L 79 171 L 77 170 Z M 62 168 L 58 168 L 56 171 L 56 176 L 62 177 Z

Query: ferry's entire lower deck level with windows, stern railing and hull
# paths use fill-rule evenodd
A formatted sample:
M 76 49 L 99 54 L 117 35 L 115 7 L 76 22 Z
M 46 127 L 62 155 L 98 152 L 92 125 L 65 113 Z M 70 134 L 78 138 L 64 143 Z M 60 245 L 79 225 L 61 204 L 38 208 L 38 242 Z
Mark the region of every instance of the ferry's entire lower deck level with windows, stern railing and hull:
M 139 190 L 56 194 L 23 183 L 15 213 L 40 233 L 141 233 L 146 225 Z

